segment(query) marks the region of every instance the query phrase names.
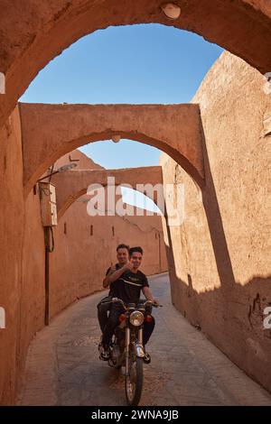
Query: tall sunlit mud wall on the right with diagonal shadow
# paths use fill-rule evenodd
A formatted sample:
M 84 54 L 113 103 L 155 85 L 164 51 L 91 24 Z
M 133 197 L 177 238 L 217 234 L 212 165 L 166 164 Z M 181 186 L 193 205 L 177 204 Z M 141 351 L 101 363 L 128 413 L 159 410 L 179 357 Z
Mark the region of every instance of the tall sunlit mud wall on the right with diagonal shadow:
M 206 187 L 163 154 L 164 182 L 183 183 L 185 218 L 166 243 L 175 307 L 271 391 L 271 96 L 263 77 L 229 53 L 192 100 L 201 106 Z

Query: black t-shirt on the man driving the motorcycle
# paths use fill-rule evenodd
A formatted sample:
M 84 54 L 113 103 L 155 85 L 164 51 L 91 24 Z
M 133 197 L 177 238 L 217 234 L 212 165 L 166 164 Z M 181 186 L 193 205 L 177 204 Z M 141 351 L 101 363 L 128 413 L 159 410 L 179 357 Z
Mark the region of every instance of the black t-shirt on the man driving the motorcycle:
M 126 304 L 137 303 L 144 287 L 149 287 L 149 283 L 143 272 L 126 271 L 117 280 L 114 295 Z

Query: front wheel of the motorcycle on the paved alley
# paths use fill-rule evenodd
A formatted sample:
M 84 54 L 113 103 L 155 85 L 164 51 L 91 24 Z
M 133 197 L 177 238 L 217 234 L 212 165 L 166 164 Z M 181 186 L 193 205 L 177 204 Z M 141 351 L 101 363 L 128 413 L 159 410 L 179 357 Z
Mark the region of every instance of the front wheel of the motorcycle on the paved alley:
M 143 360 L 132 353 L 129 357 L 129 375 L 126 375 L 126 402 L 138 405 L 143 386 Z

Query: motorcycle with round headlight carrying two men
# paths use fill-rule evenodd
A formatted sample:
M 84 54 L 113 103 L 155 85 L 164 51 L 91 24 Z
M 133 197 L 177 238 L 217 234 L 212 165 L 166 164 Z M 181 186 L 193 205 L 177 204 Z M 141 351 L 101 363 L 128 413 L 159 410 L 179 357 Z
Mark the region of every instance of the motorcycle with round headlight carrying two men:
M 117 369 L 125 366 L 126 402 L 129 406 L 136 406 L 143 387 L 144 322 L 153 319 L 152 307 L 158 305 L 151 300 L 139 300 L 137 305 L 129 303 L 127 306 L 117 298 L 112 302 L 121 304 L 124 313 L 119 316 L 119 325 L 109 347 L 108 365 Z

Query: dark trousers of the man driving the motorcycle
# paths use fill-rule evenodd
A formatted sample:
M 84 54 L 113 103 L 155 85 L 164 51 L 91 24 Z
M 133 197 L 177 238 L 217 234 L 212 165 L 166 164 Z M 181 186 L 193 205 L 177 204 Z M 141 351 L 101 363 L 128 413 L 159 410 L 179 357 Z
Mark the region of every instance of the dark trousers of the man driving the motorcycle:
M 105 345 L 108 346 L 110 344 L 111 338 L 114 334 L 114 330 L 117 327 L 117 324 L 119 322 L 118 318 L 123 312 L 124 312 L 124 309 L 120 305 L 117 305 L 116 303 L 112 304 L 112 307 L 109 313 L 109 318 L 107 319 L 107 324 L 104 327 L 104 331 L 103 331 L 103 334 L 104 334 L 103 343 Z M 155 320 L 153 316 L 152 318 L 153 319 L 151 322 L 144 323 L 144 328 L 143 328 L 143 345 L 144 346 L 147 344 L 150 336 L 152 336 L 152 333 L 154 331 Z

